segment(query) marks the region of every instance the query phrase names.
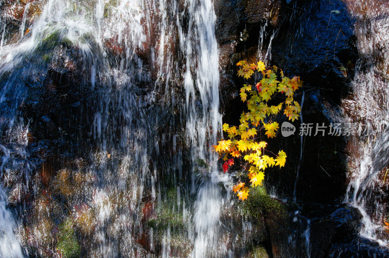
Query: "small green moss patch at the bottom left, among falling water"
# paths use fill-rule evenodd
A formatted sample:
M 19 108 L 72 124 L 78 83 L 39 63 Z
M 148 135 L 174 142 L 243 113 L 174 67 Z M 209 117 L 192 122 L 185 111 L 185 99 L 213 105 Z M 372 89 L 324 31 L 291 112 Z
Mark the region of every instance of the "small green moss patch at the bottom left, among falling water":
M 57 248 L 61 251 L 63 258 L 77 258 L 81 255 L 81 247 L 74 233 L 71 219 L 67 219 L 59 225 Z

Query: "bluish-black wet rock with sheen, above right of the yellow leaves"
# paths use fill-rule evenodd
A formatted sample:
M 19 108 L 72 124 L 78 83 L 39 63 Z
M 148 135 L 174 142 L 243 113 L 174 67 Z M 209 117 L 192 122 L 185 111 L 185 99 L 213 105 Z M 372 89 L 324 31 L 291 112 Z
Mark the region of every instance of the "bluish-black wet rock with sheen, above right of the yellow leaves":
M 289 11 L 288 11 L 289 10 Z M 291 17 L 284 21 L 273 42 L 273 63 L 301 76 L 305 86 L 323 88 L 322 94 L 336 104 L 348 94 L 348 83 L 357 55 L 354 18 L 342 1 L 301 1 L 285 8 Z

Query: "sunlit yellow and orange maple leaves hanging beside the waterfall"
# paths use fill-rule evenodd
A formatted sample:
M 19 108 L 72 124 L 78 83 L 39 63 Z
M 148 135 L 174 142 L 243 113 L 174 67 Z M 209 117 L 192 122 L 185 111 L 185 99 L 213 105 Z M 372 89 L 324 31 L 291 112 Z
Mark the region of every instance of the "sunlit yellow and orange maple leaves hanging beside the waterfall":
M 238 127 L 224 124 L 226 139 L 213 147 L 225 161 L 223 172 L 227 172 L 234 164 L 234 159 L 243 158 L 251 186 L 256 187 L 262 185 L 267 167 L 283 167 L 285 164 L 285 152 L 280 150 L 277 155 L 271 155 L 261 136 L 262 132 L 267 138 L 276 136 L 279 124 L 274 118 L 277 114 L 283 112 L 292 121 L 299 117 L 301 107 L 293 96 L 302 86 L 302 81 L 297 76 L 291 79 L 285 77 L 283 71 L 276 66 L 266 68 L 261 61 L 257 64 L 240 61 L 236 65 L 239 66 L 238 76 L 248 80 L 253 74 L 258 74 L 261 80 L 255 87 L 244 84 L 240 89 L 241 100 L 247 103 L 248 112 L 241 114 Z M 232 191 L 243 201 L 248 197 L 249 188 L 245 182 L 239 181 L 232 187 Z

